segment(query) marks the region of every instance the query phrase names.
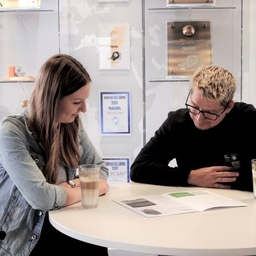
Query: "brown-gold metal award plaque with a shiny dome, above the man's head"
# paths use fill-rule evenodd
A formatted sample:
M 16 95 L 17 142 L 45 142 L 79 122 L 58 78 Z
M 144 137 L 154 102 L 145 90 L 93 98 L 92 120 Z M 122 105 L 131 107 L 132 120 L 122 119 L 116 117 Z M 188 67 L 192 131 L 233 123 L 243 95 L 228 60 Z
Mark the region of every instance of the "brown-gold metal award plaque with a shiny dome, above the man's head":
M 211 60 L 210 21 L 167 22 L 168 76 L 191 76 Z

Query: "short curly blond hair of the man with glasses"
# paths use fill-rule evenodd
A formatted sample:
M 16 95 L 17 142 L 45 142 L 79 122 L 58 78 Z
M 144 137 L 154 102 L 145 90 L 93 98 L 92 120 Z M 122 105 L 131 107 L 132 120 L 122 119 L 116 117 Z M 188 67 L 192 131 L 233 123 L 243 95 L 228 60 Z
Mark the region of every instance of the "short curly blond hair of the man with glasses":
M 195 89 L 201 90 L 205 98 L 217 100 L 226 107 L 235 94 L 236 80 L 229 70 L 209 65 L 193 75 L 191 92 Z

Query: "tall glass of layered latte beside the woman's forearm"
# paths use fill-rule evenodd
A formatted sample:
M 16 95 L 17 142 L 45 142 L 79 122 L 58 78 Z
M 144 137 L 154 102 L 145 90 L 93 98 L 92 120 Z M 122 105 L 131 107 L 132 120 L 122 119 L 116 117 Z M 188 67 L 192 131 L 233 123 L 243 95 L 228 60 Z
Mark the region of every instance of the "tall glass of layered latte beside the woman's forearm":
M 82 193 L 82 207 L 96 208 L 99 199 L 99 171 L 101 166 L 83 164 L 78 167 Z

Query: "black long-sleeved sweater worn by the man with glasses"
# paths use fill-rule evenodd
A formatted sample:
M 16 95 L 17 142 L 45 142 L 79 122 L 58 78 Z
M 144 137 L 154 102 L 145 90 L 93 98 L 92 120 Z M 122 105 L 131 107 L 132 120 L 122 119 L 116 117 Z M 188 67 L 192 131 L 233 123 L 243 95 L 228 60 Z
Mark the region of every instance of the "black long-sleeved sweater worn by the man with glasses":
M 189 186 L 191 170 L 236 166 L 239 177 L 229 185 L 232 189 L 252 191 L 255 121 L 256 109 L 239 102 L 217 126 L 208 130 L 197 129 L 186 109 L 170 112 L 133 162 L 130 179 L 155 185 Z M 173 158 L 177 167 L 168 167 Z

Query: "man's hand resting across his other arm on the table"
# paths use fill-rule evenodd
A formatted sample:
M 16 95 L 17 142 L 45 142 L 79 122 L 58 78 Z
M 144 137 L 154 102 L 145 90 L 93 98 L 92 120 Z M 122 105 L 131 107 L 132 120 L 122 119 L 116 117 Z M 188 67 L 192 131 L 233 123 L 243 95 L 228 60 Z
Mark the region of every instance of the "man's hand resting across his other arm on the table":
M 211 166 L 192 170 L 188 176 L 188 183 L 200 187 L 229 189 L 231 186 L 218 182 L 235 182 L 239 173 L 232 170 L 233 167 L 228 166 Z

